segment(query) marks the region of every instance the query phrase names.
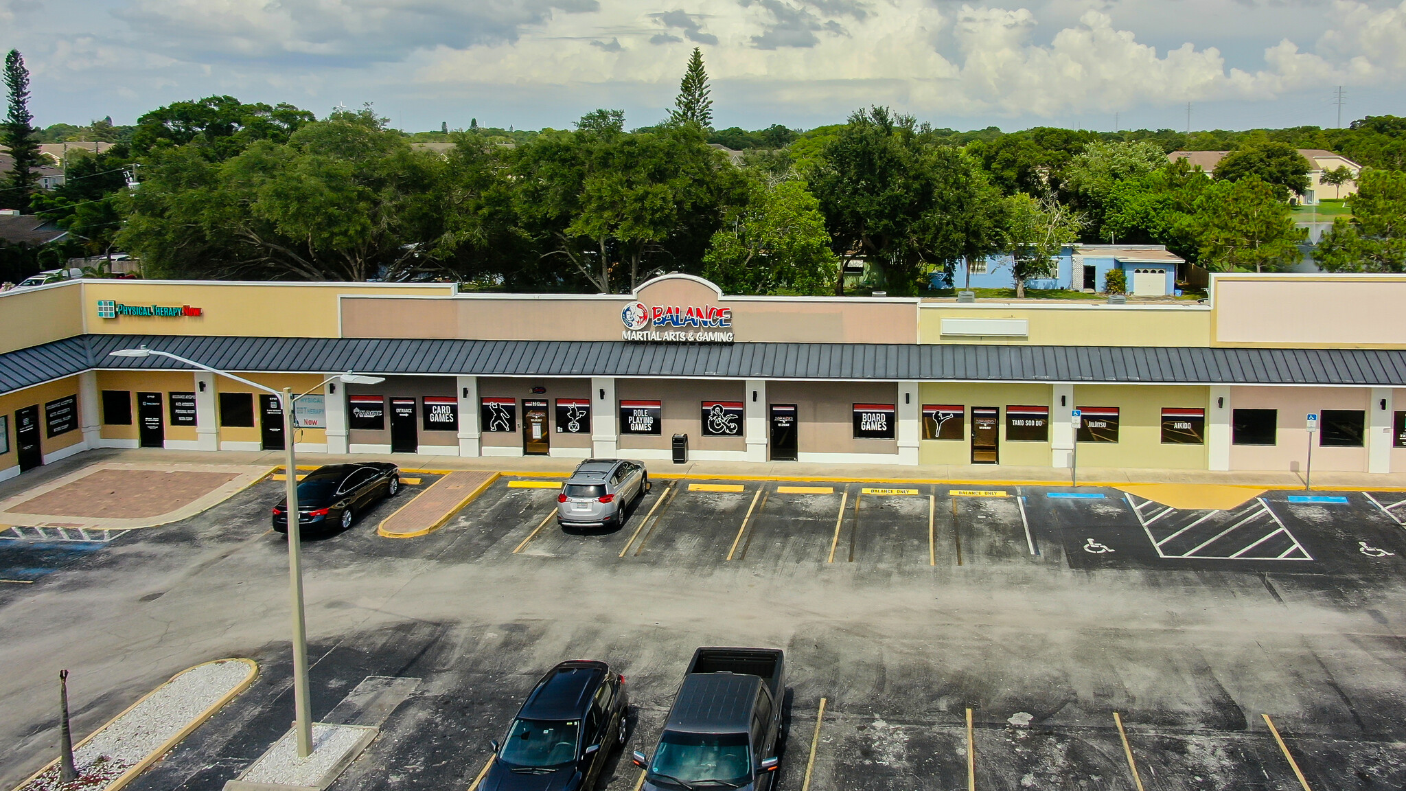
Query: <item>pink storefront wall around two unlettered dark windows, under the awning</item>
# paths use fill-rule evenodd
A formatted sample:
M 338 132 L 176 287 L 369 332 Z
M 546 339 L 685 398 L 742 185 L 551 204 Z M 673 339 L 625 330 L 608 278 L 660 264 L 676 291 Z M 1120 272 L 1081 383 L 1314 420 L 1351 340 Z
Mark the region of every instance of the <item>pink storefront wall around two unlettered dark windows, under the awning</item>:
M 1302 472 L 1309 449 L 1306 415 L 1323 410 L 1367 410 L 1367 387 L 1232 387 L 1232 410 L 1278 410 L 1277 443 L 1232 445 L 1232 470 Z M 1322 448 L 1313 442 L 1313 469 L 1367 472 L 1367 448 Z M 1395 464 L 1393 464 L 1395 469 Z

